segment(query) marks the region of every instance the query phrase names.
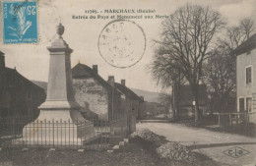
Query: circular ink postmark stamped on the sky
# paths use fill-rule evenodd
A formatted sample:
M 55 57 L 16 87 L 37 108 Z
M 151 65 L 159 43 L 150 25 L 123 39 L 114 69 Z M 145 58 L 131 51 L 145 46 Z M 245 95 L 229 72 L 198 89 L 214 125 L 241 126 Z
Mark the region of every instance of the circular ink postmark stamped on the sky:
M 108 23 L 98 36 L 98 51 L 109 65 L 128 68 L 137 64 L 146 49 L 143 28 L 128 20 Z

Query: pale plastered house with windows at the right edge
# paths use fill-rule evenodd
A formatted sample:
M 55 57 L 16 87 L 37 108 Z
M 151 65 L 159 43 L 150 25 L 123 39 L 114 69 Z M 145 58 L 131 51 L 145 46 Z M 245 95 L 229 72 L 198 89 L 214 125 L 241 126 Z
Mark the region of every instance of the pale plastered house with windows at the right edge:
M 236 55 L 237 111 L 248 112 L 256 123 L 256 34 L 239 45 Z

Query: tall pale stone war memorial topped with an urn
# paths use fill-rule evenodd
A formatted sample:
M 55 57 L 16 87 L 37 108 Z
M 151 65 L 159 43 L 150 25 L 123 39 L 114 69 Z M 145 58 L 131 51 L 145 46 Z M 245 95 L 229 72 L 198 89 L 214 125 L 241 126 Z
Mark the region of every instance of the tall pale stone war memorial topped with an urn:
M 38 118 L 23 129 L 15 144 L 84 145 L 98 138 L 94 124 L 84 119 L 75 102 L 70 55 L 73 50 L 63 39 L 64 27 L 57 26 L 58 37 L 47 47 L 50 52 L 47 97 L 39 106 Z

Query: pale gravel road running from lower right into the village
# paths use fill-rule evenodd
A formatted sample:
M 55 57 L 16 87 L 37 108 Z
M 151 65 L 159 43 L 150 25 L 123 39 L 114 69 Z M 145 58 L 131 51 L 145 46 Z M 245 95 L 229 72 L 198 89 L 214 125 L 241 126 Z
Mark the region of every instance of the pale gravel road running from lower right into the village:
M 205 129 L 189 128 L 180 124 L 142 123 L 137 124 L 137 130 L 148 128 L 154 133 L 170 141 L 191 146 L 224 165 L 256 165 L 256 138 L 248 138 L 232 134 L 211 132 Z M 249 154 L 233 158 L 224 154 L 224 150 L 240 147 Z

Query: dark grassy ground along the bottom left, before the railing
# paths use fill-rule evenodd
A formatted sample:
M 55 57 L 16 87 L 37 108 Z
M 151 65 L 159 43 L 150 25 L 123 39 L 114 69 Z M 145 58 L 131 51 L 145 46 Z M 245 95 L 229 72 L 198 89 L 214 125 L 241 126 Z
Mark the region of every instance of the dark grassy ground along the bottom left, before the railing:
M 88 150 L 79 152 L 72 149 L 31 148 L 28 151 L 12 148 L 0 152 L 1 163 L 12 166 L 113 166 L 113 165 L 156 165 L 158 158 L 144 150 L 136 143 L 129 143 L 118 152 L 107 153 L 106 150 Z M 3 164 L 2 164 L 3 165 Z

